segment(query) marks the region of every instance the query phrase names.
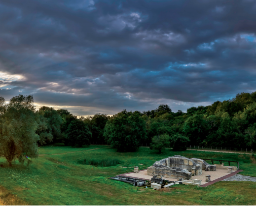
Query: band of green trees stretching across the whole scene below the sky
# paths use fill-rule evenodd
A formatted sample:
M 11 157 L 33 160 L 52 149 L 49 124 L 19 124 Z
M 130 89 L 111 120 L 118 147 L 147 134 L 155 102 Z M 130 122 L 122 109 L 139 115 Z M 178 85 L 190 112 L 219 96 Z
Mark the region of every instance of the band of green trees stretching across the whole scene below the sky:
M 15 96 L 7 104 L 0 97 L 0 157 L 11 165 L 38 156 L 38 146 L 111 144 L 117 151 L 136 151 L 142 144 L 152 149 L 188 145 L 256 147 L 256 92 L 215 101 L 173 113 L 168 105 L 151 111 L 126 111 L 111 116 L 81 117 L 67 110 L 41 107 L 35 110 L 33 96 Z M 30 157 L 30 158 L 29 158 Z

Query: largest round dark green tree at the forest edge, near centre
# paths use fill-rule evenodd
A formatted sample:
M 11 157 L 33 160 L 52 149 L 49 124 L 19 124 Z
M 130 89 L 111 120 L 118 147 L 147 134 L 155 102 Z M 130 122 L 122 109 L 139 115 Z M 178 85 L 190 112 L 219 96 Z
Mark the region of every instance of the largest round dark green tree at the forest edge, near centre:
M 145 139 L 146 126 L 137 114 L 126 110 L 113 115 L 105 125 L 104 137 L 117 151 L 136 151 Z

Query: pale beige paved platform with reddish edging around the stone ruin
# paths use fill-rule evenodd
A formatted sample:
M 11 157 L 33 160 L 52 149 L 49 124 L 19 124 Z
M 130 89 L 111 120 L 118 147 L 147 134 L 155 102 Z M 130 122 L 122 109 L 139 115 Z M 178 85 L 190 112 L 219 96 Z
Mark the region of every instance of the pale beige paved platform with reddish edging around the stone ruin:
M 231 177 L 241 171 L 242 170 L 238 170 L 238 171 L 234 171 L 232 173 L 229 173 L 227 169 L 216 169 L 216 171 L 203 171 L 202 175 L 192 176 L 192 179 L 202 180 L 201 187 L 204 187 L 204 185 L 206 185 L 206 186 L 211 185 L 217 181 L 221 181 L 223 179 Z M 128 177 L 135 177 L 135 178 L 139 178 L 139 179 L 143 179 L 143 180 L 151 180 L 151 178 L 153 177 L 151 175 L 147 175 L 147 170 L 140 170 L 138 173 L 130 172 L 130 173 L 122 174 L 122 175 L 128 176 Z M 211 176 L 211 182 L 205 181 L 206 175 Z M 170 181 L 177 181 L 176 178 L 163 177 L 163 179 L 170 180 Z

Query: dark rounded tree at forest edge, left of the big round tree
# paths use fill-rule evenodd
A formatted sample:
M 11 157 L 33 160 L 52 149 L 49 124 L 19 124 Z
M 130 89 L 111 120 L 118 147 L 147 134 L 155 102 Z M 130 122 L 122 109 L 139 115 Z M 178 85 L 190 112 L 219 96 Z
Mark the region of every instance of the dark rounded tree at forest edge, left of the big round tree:
M 77 119 L 68 125 L 65 137 L 71 146 L 89 146 L 91 144 L 92 133 L 83 121 Z

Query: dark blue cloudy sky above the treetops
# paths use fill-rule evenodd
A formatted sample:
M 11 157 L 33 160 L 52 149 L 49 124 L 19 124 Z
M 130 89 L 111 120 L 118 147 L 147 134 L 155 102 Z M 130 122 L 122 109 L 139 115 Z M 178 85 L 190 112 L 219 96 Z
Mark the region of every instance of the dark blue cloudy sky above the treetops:
M 256 91 L 256 1 L 1 0 L 0 96 L 74 115 Z

